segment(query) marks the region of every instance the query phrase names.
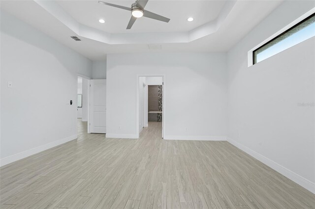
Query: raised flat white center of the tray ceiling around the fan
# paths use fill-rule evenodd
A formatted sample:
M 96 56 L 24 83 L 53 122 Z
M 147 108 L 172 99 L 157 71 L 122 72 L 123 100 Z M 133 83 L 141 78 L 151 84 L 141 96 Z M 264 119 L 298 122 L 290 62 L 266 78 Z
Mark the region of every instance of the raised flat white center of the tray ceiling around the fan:
M 107 0 L 106 2 L 130 7 L 134 0 Z M 126 26 L 131 12 L 104 4 L 97 0 L 58 0 L 57 3 L 77 22 L 110 33 L 189 31 L 215 20 L 225 0 L 149 0 L 145 9 L 170 18 L 169 23 L 139 18 L 130 30 Z M 205 9 L 207 8 L 207 9 Z M 193 17 L 193 22 L 187 18 Z M 105 23 L 98 22 L 104 19 Z

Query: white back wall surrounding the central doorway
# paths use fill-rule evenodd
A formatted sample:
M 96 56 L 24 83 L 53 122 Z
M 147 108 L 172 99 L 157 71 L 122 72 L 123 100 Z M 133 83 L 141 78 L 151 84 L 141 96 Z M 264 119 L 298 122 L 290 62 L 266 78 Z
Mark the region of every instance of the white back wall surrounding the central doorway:
M 108 54 L 106 137 L 137 137 L 138 74 L 165 74 L 165 139 L 225 139 L 225 53 Z

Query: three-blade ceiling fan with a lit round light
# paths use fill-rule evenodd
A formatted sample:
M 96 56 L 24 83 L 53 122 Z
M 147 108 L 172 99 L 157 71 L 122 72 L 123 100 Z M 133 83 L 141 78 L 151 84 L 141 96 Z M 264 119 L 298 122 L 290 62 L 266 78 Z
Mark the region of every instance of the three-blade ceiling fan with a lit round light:
M 98 3 L 102 3 L 108 6 L 114 6 L 120 9 L 125 9 L 128 11 L 131 11 L 131 18 L 129 20 L 128 26 L 126 29 L 130 29 L 132 27 L 132 25 L 134 24 L 134 22 L 136 21 L 137 18 L 141 18 L 143 17 L 147 17 L 147 18 L 151 18 L 151 19 L 155 19 L 158 21 L 162 21 L 165 23 L 168 23 L 170 21 L 169 18 L 163 17 L 161 15 L 158 15 L 156 13 L 150 12 L 148 10 L 145 10 L 144 7 L 146 6 L 146 4 L 148 3 L 148 0 L 136 0 L 136 2 L 134 2 L 133 4 L 131 4 L 131 8 L 126 7 L 126 6 L 121 6 L 121 5 L 117 5 L 117 4 L 113 4 L 113 3 L 107 3 L 104 1 L 98 1 Z

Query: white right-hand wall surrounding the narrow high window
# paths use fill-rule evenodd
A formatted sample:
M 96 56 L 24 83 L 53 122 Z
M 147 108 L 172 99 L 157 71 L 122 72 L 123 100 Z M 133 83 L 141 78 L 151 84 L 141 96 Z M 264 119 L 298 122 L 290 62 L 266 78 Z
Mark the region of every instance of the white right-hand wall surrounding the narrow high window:
M 251 67 L 247 52 L 312 9 L 285 1 L 228 53 L 228 140 L 315 192 L 315 38 Z

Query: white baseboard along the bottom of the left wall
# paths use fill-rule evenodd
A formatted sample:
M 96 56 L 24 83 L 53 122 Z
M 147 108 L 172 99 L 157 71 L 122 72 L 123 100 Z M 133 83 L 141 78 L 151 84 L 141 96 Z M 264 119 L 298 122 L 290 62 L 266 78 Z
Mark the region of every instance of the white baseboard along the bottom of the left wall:
M 48 150 L 50 148 L 56 147 L 58 145 L 66 143 L 68 141 L 74 140 L 76 138 L 77 138 L 77 135 L 68 136 L 66 138 L 63 138 L 63 139 L 60 139 L 57 141 L 53 141 L 53 142 L 50 142 L 48 144 L 44 144 L 44 145 L 41 145 L 39 147 L 32 148 L 30 150 L 23 151 L 21 153 L 17 153 L 17 154 L 8 156 L 8 157 L 4 157 L 4 158 L 0 159 L 0 166 L 7 165 L 7 164 L 9 164 L 11 162 L 15 162 L 19 159 L 23 159 L 25 157 L 32 156 L 34 154 L 37 154 L 37 153 L 40 153 L 42 151 Z

